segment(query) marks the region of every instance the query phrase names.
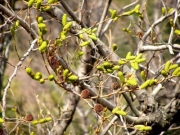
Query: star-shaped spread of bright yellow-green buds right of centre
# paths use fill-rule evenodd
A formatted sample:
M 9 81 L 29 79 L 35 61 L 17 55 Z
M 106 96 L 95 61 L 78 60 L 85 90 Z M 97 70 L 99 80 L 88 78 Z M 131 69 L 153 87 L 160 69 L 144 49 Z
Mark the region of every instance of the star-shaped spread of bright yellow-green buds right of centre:
M 146 61 L 146 59 L 142 58 L 142 53 L 138 54 L 137 56 L 134 56 L 134 55 L 131 54 L 131 52 L 128 52 L 127 55 L 126 55 L 126 58 L 119 60 L 118 63 L 120 65 L 124 65 L 127 62 L 129 62 L 131 67 L 134 70 L 138 70 L 139 69 L 139 64 L 142 63 L 142 62 L 145 62 L 145 61 Z

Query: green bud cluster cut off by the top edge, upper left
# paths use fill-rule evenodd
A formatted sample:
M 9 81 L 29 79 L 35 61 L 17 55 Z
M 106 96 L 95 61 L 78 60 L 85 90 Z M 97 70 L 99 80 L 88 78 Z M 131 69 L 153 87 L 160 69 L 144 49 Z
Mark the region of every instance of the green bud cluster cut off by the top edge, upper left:
M 48 11 L 50 9 L 50 6 L 42 5 L 42 2 L 43 0 L 29 0 L 28 7 L 31 8 L 32 6 L 35 6 L 39 11 Z

